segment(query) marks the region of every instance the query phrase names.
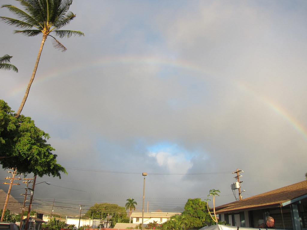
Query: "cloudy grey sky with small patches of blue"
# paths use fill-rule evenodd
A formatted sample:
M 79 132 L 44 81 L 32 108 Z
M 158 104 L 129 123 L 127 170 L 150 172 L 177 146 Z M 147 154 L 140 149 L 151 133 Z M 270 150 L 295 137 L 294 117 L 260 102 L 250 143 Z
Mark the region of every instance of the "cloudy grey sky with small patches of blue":
M 149 212 L 211 189 L 216 206 L 233 202 L 236 169 L 243 199 L 305 179 L 306 1 L 74 0 L 70 10 L 65 29 L 85 36 L 58 38 L 66 52 L 47 39 L 22 110 L 68 172 L 37 178 L 51 185 L 35 186 L 33 209 L 71 215 L 134 198 L 141 211 L 143 172 Z M 0 22 L 0 56 L 19 70 L 1 71 L 0 98 L 17 111 L 41 36 L 15 29 Z

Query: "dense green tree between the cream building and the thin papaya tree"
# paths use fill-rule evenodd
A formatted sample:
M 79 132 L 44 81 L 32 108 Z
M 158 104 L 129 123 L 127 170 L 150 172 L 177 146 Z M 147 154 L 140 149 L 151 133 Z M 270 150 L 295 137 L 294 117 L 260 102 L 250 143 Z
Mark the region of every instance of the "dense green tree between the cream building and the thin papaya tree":
M 207 202 L 200 198 L 188 199 L 185 204 L 185 211 L 182 213 L 188 220 L 188 228 L 201 228 L 206 226 L 205 222 L 210 222 Z

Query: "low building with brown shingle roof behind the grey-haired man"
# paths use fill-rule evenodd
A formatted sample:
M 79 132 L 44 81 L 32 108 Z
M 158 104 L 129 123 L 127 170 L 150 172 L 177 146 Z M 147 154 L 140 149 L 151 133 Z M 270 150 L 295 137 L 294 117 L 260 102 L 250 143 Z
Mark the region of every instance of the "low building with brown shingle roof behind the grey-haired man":
M 232 226 L 257 228 L 271 216 L 276 228 L 307 230 L 307 181 L 218 206 L 216 214 Z

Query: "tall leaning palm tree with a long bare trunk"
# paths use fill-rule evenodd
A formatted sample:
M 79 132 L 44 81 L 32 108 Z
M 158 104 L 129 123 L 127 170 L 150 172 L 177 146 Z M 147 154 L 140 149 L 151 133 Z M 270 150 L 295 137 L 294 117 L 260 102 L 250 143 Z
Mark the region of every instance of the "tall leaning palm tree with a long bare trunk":
M 18 9 L 16 6 L 3 5 L 10 12 L 17 15 L 20 19 L 14 19 L 10 17 L 0 17 L 2 21 L 9 25 L 22 28 L 23 30 L 15 30 L 14 33 L 21 33 L 26 36 L 36 36 L 42 34 L 41 47 L 38 51 L 34 70 L 25 91 L 25 96 L 21 102 L 21 105 L 16 113 L 16 117 L 19 117 L 25 101 L 27 100 L 31 84 L 34 80 L 37 70 L 38 62 L 41 57 L 47 36 L 51 36 L 53 40 L 53 46 L 62 51 L 66 51 L 66 48 L 50 33 L 55 33 L 60 38 L 71 37 L 72 35 L 84 35 L 84 33 L 75 30 L 60 30 L 65 25 L 68 25 L 72 19 L 76 17 L 75 14 L 68 11 L 72 0 L 16 0 L 24 6 L 25 11 Z

